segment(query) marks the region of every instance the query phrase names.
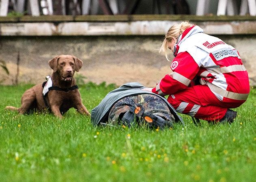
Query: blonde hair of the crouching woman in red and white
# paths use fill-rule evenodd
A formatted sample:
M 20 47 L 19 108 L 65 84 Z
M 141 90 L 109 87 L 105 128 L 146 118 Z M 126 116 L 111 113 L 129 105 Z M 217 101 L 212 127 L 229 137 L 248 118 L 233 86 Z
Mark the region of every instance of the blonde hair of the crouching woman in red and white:
M 168 59 L 168 56 L 167 56 L 167 49 L 168 49 L 168 45 L 167 43 L 168 42 L 171 42 L 171 40 L 174 38 L 175 40 L 177 38 L 179 38 L 179 36 L 185 31 L 185 29 L 189 28 L 189 27 L 192 27 L 193 25 L 189 23 L 189 21 L 183 21 L 179 24 L 176 24 L 176 25 L 172 25 L 172 27 L 170 27 L 170 29 L 168 30 L 168 32 L 166 33 L 165 35 L 165 39 L 163 40 L 163 43 L 162 43 L 162 46 L 159 50 L 159 53 L 160 52 L 164 52 L 165 53 L 165 56 L 166 56 L 166 59 L 168 61 L 170 61 Z

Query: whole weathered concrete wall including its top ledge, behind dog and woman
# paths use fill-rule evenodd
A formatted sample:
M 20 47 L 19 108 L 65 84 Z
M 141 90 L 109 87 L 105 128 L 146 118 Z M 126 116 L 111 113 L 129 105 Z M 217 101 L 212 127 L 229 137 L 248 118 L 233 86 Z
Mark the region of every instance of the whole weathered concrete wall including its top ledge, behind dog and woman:
M 51 73 L 48 60 L 73 54 L 84 61 L 77 74 L 85 76 L 86 82 L 140 82 L 153 87 L 171 71 L 158 52 L 163 35 L 182 20 L 237 48 L 250 84 L 256 86 L 256 17 L 194 15 L 0 17 L 0 59 L 10 71 L 8 76 L 0 72 L 2 84 L 13 83 L 19 52 L 22 83 L 42 83 Z M 171 52 L 169 56 L 173 59 Z

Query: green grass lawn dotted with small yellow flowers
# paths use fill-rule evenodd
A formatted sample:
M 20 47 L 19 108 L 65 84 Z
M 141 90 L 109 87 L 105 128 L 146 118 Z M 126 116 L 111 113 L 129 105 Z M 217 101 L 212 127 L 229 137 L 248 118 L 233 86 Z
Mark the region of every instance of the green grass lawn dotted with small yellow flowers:
M 256 89 L 234 109 L 232 124 L 173 130 L 101 128 L 74 109 L 60 120 L 52 114 L 17 116 L 31 85 L 0 86 L 0 179 L 2 181 L 202 181 L 253 182 L 256 176 Z M 90 111 L 114 85 L 80 86 Z

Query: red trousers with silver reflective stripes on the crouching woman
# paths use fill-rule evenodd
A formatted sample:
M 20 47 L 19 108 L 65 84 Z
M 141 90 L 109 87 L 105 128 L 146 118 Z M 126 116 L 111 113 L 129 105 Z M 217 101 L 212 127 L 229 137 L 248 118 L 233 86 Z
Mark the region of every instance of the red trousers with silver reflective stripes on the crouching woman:
M 242 103 L 225 103 L 219 100 L 206 85 L 196 85 L 168 96 L 168 102 L 183 114 L 207 121 L 219 121 L 228 108 L 239 107 Z

